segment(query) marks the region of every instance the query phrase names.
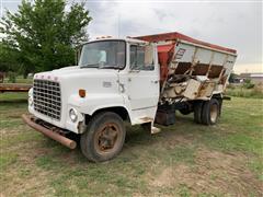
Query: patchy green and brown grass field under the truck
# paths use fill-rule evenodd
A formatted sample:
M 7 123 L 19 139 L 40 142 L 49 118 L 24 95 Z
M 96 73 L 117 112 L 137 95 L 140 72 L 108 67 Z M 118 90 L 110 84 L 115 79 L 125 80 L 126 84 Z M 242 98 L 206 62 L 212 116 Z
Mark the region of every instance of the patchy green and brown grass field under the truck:
M 0 94 L 3 196 L 261 196 L 263 102 L 233 97 L 216 126 L 178 114 L 148 135 L 128 127 L 122 153 L 90 163 L 25 126 L 27 95 Z

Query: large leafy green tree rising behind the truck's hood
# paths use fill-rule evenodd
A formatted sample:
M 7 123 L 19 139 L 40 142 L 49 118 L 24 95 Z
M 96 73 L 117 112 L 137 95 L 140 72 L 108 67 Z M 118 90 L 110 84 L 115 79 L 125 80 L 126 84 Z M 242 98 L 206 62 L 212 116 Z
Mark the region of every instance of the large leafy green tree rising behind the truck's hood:
M 83 3 L 72 3 L 68 11 L 66 5 L 65 0 L 23 0 L 16 13 L 7 11 L 2 18 L 2 45 L 15 54 L 24 74 L 75 62 L 73 47 L 88 40 L 92 19 Z

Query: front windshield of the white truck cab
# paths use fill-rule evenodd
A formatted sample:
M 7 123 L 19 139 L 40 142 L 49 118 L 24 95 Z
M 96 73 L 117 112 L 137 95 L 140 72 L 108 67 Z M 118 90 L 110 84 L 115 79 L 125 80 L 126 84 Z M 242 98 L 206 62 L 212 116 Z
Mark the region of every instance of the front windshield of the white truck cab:
M 81 68 L 125 67 L 125 42 L 100 40 L 88 43 L 82 47 L 79 66 Z

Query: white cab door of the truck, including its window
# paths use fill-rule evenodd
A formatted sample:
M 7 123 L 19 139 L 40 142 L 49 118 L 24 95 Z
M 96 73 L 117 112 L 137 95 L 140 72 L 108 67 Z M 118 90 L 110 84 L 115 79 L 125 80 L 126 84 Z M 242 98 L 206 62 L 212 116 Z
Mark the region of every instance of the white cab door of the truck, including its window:
M 127 96 L 132 111 L 153 108 L 159 100 L 159 69 L 152 45 L 128 45 Z M 152 116 L 152 115 L 151 115 Z

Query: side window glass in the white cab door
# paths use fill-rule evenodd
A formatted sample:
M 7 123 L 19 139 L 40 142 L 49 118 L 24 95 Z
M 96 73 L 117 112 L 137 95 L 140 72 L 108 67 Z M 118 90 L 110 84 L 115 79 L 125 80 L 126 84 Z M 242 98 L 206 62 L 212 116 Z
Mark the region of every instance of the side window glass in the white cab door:
M 132 45 L 129 50 L 129 67 L 132 70 L 155 70 L 153 47 Z

